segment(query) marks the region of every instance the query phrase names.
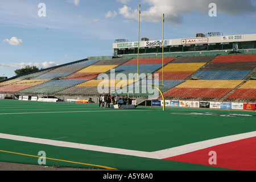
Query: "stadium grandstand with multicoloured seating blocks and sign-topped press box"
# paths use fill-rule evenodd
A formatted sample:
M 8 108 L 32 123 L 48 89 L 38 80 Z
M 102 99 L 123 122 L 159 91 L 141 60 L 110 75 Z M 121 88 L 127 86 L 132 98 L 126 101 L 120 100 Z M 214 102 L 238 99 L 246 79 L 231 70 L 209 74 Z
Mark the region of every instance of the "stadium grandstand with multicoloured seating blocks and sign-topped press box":
M 210 37 L 196 34 L 196 38 L 169 39 L 164 43 L 143 38 L 139 44 L 138 73 L 146 78 L 152 74 L 163 85 L 159 88 L 167 100 L 256 101 L 256 34 Z M 147 89 L 142 92 L 143 85 L 139 92 L 123 91 L 131 86 L 136 88 L 137 54 L 138 42 L 115 42 L 113 56 L 88 57 L 0 80 L 0 94 L 5 96 L 1 98 L 26 96 L 59 101 L 80 98 L 98 103 L 102 94 L 99 85 L 107 85 L 104 94 L 117 94 L 119 89 L 119 93 L 129 94 L 137 104 L 145 103 L 152 93 Z M 162 100 L 161 94 L 158 93 L 156 100 Z

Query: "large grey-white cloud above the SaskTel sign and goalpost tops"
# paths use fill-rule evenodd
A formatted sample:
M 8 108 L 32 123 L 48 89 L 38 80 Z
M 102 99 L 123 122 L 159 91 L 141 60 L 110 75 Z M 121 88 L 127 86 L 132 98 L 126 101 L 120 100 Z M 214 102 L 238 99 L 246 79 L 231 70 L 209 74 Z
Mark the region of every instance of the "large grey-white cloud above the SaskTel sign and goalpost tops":
M 162 15 L 164 14 L 165 22 L 180 24 L 183 20 L 183 15 L 192 13 L 207 15 L 210 10 L 210 3 L 216 3 L 217 13 L 231 16 L 239 16 L 243 14 L 251 15 L 256 11 L 256 7 L 253 6 L 251 0 L 143 0 L 141 6 L 141 20 L 146 22 L 161 22 Z M 148 8 L 143 9 L 143 6 Z M 138 9 L 133 10 L 126 5 L 119 8 L 119 14 L 126 19 L 138 20 Z

